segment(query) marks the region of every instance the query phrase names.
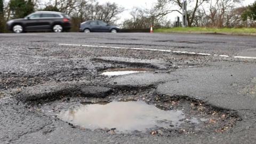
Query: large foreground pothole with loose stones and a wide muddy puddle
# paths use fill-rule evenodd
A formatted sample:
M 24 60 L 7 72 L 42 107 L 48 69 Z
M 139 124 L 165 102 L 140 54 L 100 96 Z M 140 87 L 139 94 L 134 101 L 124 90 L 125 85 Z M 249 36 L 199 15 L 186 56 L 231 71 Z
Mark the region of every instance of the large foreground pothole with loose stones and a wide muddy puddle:
M 30 106 L 69 123 L 73 128 L 114 133 L 180 134 L 224 133 L 239 117 L 189 97 L 153 95 L 153 89 L 113 92 L 106 98 L 67 97 Z

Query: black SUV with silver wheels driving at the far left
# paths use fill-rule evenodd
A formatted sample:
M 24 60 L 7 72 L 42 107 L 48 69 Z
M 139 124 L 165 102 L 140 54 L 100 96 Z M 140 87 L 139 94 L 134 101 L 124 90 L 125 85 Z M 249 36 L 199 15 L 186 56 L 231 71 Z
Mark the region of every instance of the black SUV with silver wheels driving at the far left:
M 29 14 L 23 19 L 14 19 L 7 22 L 7 28 L 14 33 L 36 30 L 53 30 L 60 33 L 71 28 L 68 15 L 60 12 L 38 11 Z

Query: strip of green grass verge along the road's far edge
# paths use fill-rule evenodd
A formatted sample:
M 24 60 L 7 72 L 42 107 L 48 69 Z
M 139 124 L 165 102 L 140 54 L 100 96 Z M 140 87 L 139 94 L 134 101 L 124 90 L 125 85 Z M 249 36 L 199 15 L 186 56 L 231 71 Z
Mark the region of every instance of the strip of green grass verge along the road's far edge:
M 256 34 L 256 28 L 160 28 L 155 29 L 156 33 L 217 33 L 217 34 Z

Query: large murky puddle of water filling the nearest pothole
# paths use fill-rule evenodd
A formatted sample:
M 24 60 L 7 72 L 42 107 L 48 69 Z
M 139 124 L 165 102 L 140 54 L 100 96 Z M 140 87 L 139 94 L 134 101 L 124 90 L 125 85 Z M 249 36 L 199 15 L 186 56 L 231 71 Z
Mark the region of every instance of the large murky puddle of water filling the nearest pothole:
M 77 109 L 62 111 L 58 116 L 63 121 L 86 129 L 113 129 L 117 132 L 145 132 L 149 128 L 179 127 L 185 118 L 180 110 L 161 110 L 145 102 L 110 102 L 105 105 L 83 105 Z

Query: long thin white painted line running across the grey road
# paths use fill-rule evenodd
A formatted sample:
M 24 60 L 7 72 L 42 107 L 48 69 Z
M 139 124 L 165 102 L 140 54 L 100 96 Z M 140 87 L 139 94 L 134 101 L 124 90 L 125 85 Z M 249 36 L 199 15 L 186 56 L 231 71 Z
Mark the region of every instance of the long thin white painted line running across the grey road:
M 195 55 L 205 55 L 210 56 L 212 54 L 209 53 L 196 53 L 196 52 L 186 52 L 186 51 L 172 51 L 172 50 L 162 50 L 162 49 L 143 49 L 138 47 L 119 47 L 119 46 L 102 46 L 102 45 L 83 45 L 83 44 L 59 44 L 59 45 L 67 45 L 67 46 L 85 46 L 85 47 L 102 47 L 102 48 L 111 48 L 111 49 L 127 49 L 127 50 L 146 50 L 146 51 L 161 51 L 161 52 L 172 52 L 172 53 L 180 53 L 180 54 L 195 54 Z M 218 55 L 213 54 L 216 57 L 224 57 L 229 58 L 229 55 Z M 244 57 L 244 56 L 234 56 L 232 58 L 239 59 L 256 59 L 256 57 Z

